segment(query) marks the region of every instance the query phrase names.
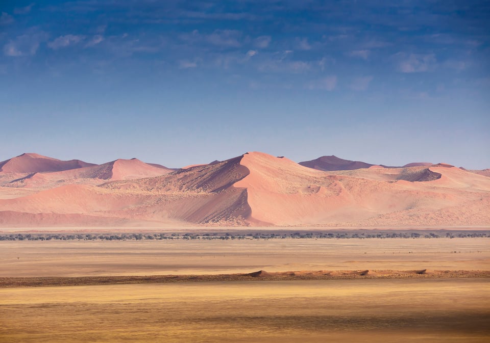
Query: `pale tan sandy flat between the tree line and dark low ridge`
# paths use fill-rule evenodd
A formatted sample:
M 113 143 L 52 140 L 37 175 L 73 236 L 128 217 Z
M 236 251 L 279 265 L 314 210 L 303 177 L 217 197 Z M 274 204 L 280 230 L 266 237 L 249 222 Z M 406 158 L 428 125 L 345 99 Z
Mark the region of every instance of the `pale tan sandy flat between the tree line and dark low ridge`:
M 4 241 L 0 276 L 490 270 L 490 238 Z

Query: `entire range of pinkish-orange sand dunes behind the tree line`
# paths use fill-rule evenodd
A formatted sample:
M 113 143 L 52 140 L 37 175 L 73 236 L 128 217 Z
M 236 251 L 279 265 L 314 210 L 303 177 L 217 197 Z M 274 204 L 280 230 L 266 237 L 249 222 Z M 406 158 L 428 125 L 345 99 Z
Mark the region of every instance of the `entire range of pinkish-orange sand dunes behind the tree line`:
M 489 227 L 488 169 L 249 152 L 174 170 L 26 153 L 0 162 L 0 226 Z

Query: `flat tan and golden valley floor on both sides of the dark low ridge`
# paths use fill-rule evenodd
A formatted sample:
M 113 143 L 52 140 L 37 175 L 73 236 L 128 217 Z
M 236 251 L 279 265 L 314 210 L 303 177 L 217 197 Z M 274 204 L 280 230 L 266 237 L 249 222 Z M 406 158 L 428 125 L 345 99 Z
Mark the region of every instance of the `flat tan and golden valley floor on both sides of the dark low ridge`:
M 488 271 L 490 239 L 0 242 L 0 277 L 421 269 Z M 0 287 L 0 324 L 2 342 L 487 342 L 490 279 Z

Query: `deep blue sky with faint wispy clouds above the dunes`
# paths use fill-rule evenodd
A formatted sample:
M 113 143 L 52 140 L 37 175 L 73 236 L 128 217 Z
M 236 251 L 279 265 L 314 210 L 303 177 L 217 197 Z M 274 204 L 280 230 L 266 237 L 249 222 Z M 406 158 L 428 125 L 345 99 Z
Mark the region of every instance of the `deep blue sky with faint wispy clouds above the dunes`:
M 490 168 L 490 1 L 0 0 L 0 161 Z

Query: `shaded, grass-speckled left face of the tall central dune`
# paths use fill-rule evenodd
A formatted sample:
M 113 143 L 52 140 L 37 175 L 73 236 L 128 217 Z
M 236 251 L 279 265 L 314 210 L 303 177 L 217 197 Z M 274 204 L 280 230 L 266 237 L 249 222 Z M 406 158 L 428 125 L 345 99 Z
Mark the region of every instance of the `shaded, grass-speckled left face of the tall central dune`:
M 155 211 L 163 211 L 178 220 L 200 224 L 243 224 L 251 212 L 247 189 L 233 186 L 250 173 L 247 167 L 240 165 L 242 157 L 154 178 L 110 182 L 101 187 L 158 194 L 161 201 Z

